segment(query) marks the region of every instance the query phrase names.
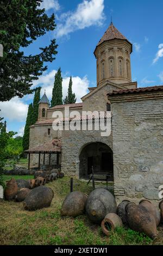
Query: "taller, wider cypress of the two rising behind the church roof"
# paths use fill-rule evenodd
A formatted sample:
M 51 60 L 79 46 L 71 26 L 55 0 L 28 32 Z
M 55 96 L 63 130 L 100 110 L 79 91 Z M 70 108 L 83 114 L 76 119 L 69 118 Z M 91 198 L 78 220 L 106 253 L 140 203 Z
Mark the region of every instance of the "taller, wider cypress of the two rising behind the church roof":
M 57 74 L 55 74 L 55 81 L 52 93 L 51 107 L 62 105 L 62 76 L 61 69 L 59 68 Z

